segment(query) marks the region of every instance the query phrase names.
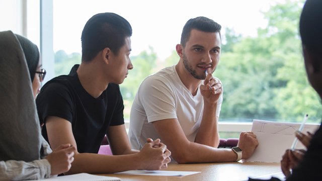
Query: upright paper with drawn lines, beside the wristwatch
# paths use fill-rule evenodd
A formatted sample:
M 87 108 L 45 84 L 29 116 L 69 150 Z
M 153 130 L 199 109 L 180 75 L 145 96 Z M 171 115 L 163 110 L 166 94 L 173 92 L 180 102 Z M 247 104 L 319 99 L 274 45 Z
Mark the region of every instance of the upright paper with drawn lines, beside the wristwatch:
M 295 131 L 300 125 L 301 123 L 253 120 L 252 132 L 256 134 L 259 145 L 246 161 L 280 162 L 285 150 L 291 147 Z M 305 124 L 302 133 L 314 133 L 318 127 L 317 124 Z M 300 141 L 295 148 L 305 149 Z

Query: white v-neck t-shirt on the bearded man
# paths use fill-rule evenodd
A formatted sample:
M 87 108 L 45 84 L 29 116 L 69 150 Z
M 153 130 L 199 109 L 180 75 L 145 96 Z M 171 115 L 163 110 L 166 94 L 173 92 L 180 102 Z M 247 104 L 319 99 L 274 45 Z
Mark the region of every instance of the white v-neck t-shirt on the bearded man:
M 221 103 L 222 94 L 217 103 L 217 117 Z M 128 134 L 132 148 L 141 149 L 147 138 L 159 138 L 152 122 L 164 119 L 178 119 L 187 139 L 194 142 L 203 107 L 200 88 L 192 96 L 180 80 L 175 65 L 146 77 L 136 93 L 130 114 Z

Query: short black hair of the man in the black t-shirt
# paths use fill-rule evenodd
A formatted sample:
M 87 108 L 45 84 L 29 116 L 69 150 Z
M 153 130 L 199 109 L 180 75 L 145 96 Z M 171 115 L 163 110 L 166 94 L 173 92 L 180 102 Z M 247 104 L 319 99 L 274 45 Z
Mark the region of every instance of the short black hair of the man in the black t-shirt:
M 131 36 L 132 27 L 123 17 L 115 13 L 94 15 L 82 32 L 82 61 L 91 61 L 107 47 L 118 54 L 125 44 L 125 38 Z

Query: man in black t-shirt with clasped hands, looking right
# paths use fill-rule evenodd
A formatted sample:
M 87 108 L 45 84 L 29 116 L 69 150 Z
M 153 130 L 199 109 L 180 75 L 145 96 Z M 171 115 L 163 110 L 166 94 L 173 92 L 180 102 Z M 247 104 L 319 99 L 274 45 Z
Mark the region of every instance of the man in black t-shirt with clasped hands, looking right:
M 171 152 L 159 139 L 147 139 L 132 150 L 123 118 L 118 84 L 133 68 L 129 58 L 132 28 L 114 13 L 94 15 L 82 32 L 82 62 L 69 75 L 48 81 L 37 96 L 43 136 L 52 148 L 75 145 L 74 162 L 66 174 L 112 173 L 167 168 Z M 107 135 L 113 155 L 97 154 Z

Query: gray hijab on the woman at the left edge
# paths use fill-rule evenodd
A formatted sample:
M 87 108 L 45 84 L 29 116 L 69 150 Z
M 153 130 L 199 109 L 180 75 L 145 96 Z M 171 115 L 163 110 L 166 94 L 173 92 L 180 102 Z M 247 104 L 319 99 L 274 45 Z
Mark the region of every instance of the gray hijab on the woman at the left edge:
M 0 32 L 0 160 L 40 158 L 40 125 L 31 82 L 17 36 Z

